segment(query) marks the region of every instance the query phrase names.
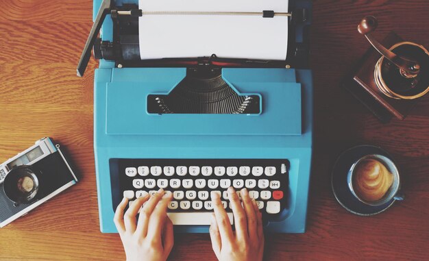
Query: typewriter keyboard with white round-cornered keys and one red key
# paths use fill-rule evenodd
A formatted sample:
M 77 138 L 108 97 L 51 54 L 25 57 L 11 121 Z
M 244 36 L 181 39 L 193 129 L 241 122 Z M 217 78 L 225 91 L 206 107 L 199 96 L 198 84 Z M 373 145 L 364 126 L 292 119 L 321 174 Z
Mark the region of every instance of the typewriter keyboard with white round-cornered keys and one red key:
M 127 197 L 131 203 L 163 188 L 173 193 L 168 216 L 174 225 L 209 225 L 213 209 L 211 191 L 219 192 L 233 223 L 227 192 L 230 186 L 239 198 L 240 190 L 247 188 L 249 196 L 266 215 L 279 214 L 286 205 L 288 160 L 121 159 L 117 162 L 120 186 L 117 203 L 121 197 Z

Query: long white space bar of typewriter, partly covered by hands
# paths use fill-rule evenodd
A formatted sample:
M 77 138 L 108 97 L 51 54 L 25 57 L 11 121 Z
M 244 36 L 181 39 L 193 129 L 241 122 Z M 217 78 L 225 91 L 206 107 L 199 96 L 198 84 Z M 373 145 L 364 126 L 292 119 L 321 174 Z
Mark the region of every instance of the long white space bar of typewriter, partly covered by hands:
M 213 212 L 168 212 L 167 216 L 173 225 L 210 225 Z M 228 214 L 231 225 L 234 224 L 234 216 Z

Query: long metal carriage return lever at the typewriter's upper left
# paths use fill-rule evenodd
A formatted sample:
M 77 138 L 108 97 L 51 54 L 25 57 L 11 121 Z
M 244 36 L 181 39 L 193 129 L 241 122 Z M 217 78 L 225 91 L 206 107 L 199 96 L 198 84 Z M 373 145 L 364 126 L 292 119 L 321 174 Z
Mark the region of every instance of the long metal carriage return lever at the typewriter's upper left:
M 82 56 L 80 57 L 79 64 L 77 64 L 77 76 L 79 77 L 82 77 L 85 73 L 86 66 L 88 65 L 89 58 L 91 57 L 91 49 L 93 49 L 95 39 L 100 32 L 104 18 L 106 18 L 106 15 L 110 13 L 111 9 L 111 0 L 103 0 L 101 2 L 97 17 L 95 18 L 93 27 L 91 28 L 88 39 L 86 40 L 84 51 L 82 52 Z

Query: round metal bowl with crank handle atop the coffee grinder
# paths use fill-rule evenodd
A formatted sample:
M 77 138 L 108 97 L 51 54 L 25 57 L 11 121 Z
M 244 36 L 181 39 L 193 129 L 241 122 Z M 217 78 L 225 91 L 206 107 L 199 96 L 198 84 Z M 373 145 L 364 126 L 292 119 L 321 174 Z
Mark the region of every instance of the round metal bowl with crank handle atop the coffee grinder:
M 358 25 L 371 45 L 382 55 L 374 69 L 378 90 L 392 99 L 417 99 L 429 92 L 429 52 L 414 42 L 398 42 L 390 49 L 371 36 L 378 25 L 366 16 Z

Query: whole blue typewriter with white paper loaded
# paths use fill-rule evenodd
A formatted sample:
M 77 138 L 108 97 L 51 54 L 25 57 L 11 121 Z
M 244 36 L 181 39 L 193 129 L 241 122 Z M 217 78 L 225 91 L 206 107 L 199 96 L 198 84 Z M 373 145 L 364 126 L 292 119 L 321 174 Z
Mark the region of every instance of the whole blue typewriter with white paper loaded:
M 93 11 L 77 75 L 93 50 L 101 232 L 117 232 L 123 197 L 164 188 L 175 231 L 206 233 L 213 190 L 234 223 L 230 186 L 249 190 L 266 232 L 305 232 L 310 1 L 94 0 Z

